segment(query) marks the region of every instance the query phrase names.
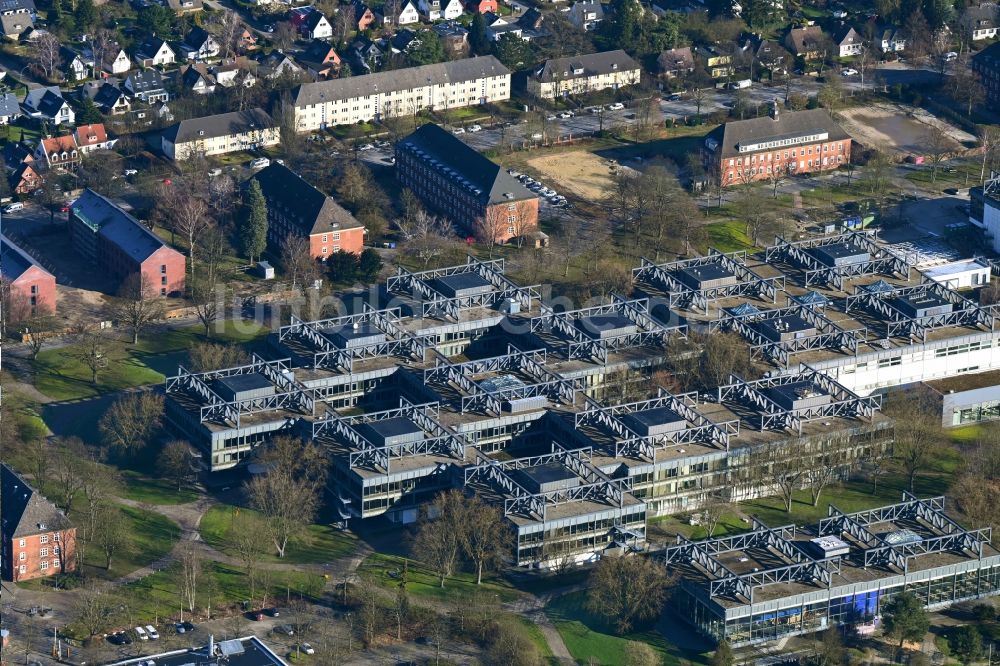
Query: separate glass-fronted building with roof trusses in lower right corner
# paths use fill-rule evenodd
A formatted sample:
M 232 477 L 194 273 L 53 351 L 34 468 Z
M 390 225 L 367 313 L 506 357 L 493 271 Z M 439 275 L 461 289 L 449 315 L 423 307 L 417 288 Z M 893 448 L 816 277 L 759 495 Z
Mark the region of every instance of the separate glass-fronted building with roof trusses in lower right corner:
M 678 538 L 663 553 L 680 576 L 672 604 L 701 633 L 732 645 L 806 634 L 834 624 L 874 630 L 885 604 L 912 592 L 928 608 L 1000 592 L 990 530 L 967 530 L 944 498 L 844 513 L 816 525 L 768 527 L 703 541 Z

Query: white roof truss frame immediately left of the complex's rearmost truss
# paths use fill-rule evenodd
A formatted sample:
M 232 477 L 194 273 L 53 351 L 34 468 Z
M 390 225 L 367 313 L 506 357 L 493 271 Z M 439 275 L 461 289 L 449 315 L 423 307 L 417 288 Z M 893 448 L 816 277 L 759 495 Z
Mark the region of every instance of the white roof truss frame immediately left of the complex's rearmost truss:
M 778 292 L 785 288 L 785 277 L 762 278 L 746 265 L 746 252 L 724 254 L 715 248 L 709 250 L 708 256 L 684 259 L 665 264 L 657 264 L 645 257 L 638 268 L 632 269 L 632 279 L 646 281 L 664 290 L 669 295 L 670 307 L 697 308 L 708 312 L 708 304 L 730 296 L 745 296 L 747 294 L 776 302 Z M 676 273 L 685 268 L 718 264 L 736 276 L 737 282 L 731 285 L 694 289 L 681 282 Z

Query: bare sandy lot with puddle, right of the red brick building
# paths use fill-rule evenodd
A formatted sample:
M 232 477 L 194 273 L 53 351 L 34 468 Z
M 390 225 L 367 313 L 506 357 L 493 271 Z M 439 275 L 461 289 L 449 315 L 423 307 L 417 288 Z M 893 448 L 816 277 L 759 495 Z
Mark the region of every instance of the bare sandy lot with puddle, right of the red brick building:
M 839 115 L 841 125 L 855 141 L 865 146 L 884 146 L 904 155 L 926 151 L 931 132 L 947 136 L 949 150 L 960 150 L 962 142 L 976 140 L 968 132 L 912 106 L 874 104 L 844 109 Z

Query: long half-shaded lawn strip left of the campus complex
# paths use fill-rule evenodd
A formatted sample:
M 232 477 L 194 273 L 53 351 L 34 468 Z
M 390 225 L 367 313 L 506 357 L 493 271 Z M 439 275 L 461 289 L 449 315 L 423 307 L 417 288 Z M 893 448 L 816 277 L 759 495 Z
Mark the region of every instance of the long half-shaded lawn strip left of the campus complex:
M 212 340 L 223 343 L 246 343 L 266 333 L 253 322 L 226 321 Z M 90 381 L 90 369 L 73 357 L 70 348 L 45 349 L 35 359 L 35 387 L 53 400 L 79 400 L 103 393 L 121 391 L 162 382 L 165 373 L 177 370 L 186 359 L 186 351 L 204 340 L 201 326 L 146 334 L 137 345 L 125 345 L 121 360 L 111 361 Z

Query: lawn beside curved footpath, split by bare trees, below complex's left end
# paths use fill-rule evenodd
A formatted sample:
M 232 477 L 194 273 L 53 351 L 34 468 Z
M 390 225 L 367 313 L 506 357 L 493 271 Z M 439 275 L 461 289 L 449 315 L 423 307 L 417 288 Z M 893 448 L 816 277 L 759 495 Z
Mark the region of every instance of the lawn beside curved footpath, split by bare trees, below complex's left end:
M 201 538 L 212 548 L 228 555 L 235 555 L 227 546 L 227 535 L 233 528 L 237 507 L 220 504 L 210 508 L 202 516 L 199 530 Z M 240 512 L 254 514 L 252 509 L 239 508 Z M 285 562 L 288 564 L 323 564 L 349 555 L 357 545 L 355 537 L 334 529 L 329 525 L 310 525 L 304 537 L 293 541 L 285 550 L 285 557 L 279 559 L 265 537 L 262 543 L 267 548 L 265 562 Z

